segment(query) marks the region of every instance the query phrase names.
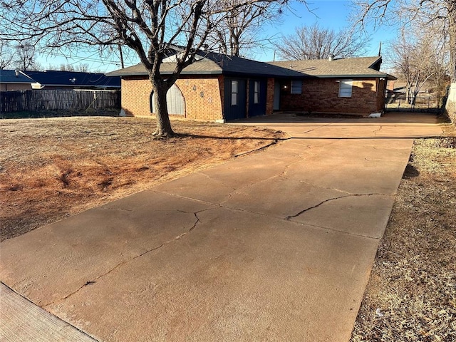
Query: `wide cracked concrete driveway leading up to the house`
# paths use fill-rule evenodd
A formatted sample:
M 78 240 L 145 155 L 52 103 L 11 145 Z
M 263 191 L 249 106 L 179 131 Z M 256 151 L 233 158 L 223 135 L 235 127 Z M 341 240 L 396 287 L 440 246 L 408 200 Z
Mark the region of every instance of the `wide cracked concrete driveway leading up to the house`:
M 99 341 L 348 341 L 412 138 L 442 129 L 254 124 L 291 139 L 6 240 L 0 280 Z

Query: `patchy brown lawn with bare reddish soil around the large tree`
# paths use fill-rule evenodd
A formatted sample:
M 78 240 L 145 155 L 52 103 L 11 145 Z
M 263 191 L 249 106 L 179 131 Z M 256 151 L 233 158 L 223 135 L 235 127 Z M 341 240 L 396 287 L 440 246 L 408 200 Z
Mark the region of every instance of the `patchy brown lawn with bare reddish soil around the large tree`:
M 0 120 L 0 239 L 274 144 L 283 133 L 147 118 Z

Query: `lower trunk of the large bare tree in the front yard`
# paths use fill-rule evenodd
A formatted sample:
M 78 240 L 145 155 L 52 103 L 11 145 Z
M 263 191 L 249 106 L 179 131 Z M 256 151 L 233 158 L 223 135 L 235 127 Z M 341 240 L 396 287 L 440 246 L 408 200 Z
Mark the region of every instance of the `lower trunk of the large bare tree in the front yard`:
M 170 115 L 166 102 L 166 93 L 169 87 L 163 81 L 152 81 L 152 88 L 155 91 L 155 116 L 157 118 L 157 130 L 153 133 L 156 137 L 167 138 L 175 135 L 171 128 Z

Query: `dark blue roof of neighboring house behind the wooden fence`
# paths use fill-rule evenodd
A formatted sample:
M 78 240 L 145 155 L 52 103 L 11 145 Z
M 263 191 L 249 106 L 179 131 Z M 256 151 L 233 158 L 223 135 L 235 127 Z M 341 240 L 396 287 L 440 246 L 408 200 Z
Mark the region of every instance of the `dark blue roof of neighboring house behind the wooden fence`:
M 120 77 L 107 77 L 103 73 L 76 71 L 24 71 L 42 86 L 120 88 Z

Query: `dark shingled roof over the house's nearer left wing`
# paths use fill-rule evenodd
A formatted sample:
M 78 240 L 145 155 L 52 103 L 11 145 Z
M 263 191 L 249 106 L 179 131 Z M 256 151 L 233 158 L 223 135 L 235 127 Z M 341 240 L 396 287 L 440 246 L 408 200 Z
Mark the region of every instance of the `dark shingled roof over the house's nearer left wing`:
M 170 75 L 176 63 L 165 61 L 160 66 L 162 75 Z M 271 63 L 253 61 L 251 59 L 227 56 L 222 53 L 201 51 L 196 56 L 196 61 L 182 70 L 181 75 L 249 75 L 262 77 L 300 77 L 301 73 L 274 66 Z M 140 76 L 147 75 L 142 64 L 130 66 L 107 73 L 106 76 Z

